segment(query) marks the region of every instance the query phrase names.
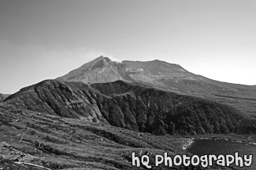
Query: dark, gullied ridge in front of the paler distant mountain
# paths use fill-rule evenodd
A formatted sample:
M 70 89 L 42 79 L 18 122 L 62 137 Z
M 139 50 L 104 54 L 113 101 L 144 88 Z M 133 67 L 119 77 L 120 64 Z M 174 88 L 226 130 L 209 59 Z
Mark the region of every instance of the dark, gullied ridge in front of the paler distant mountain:
M 93 85 L 42 81 L 4 103 L 155 135 L 256 132 L 256 121 L 233 107 L 124 81 Z

